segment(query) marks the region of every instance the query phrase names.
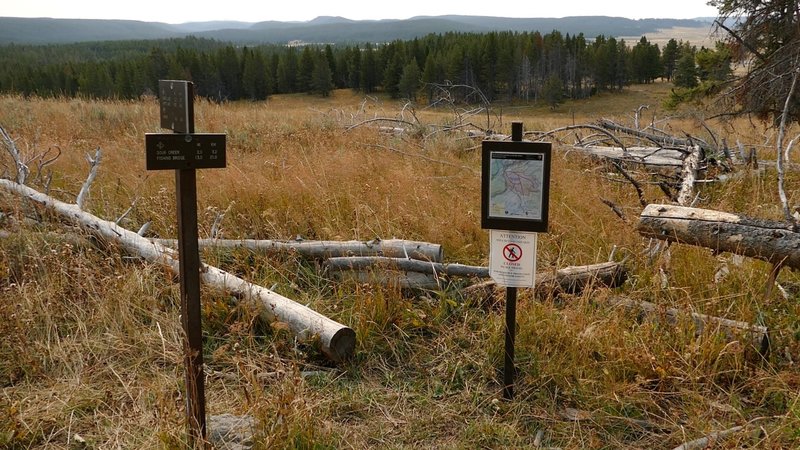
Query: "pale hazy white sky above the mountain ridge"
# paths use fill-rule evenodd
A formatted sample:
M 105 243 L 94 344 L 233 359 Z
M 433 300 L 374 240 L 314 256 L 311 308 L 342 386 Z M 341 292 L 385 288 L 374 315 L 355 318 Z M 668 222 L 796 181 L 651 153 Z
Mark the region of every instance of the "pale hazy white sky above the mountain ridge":
M 413 16 L 463 14 L 501 17 L 619 16 L 631 19 L 716 16 L 707 0 L 555 0 L 491 2 L 476 0 L 0 0 L 1 17 L 131 19 L 182 23 L 209 20 L 311 20 L 317 16 L 348 19 L 407 19 Z

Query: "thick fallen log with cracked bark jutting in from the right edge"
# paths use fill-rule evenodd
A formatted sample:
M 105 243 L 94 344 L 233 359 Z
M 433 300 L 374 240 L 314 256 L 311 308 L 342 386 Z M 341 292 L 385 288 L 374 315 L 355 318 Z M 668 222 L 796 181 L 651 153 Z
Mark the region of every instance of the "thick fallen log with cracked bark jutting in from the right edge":
M 800 268 L 800 233 L 791 225 L 674 205 L 648 205 L 636 230 L 644 237 L 707 247 Z

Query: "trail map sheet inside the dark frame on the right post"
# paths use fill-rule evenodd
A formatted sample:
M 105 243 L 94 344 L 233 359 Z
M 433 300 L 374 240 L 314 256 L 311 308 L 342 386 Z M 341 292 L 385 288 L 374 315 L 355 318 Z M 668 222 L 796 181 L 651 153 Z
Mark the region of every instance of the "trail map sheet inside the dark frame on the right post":
M 489 164 L 489 216 L 541 220 L 543 156 L 492 152 Z

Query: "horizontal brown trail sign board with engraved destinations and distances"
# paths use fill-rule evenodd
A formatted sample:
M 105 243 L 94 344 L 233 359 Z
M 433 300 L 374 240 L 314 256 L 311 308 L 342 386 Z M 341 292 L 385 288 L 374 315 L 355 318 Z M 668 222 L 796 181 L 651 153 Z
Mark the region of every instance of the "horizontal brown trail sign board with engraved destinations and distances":
M 147 133 L 147 170 L 225 167 L 225 135 Z

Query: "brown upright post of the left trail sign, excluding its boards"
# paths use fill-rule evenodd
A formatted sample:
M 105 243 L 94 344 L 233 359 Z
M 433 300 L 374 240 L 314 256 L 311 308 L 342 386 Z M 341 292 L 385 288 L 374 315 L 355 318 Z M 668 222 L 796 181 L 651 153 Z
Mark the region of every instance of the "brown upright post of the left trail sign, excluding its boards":
M 194 133 L 194 93 L 187 93 L 189 112 L 186 130 Z M 203 379 L 203 331 L 200 308 L 200 249 L 197 243 L 197 173 L 195 169 L 175 170 L 178 209 L 178 257 L 181 283 L 181 324 L 186 335 L 186 417 L 189 447 L 204 448 L 206 438 L 206 395 Z

